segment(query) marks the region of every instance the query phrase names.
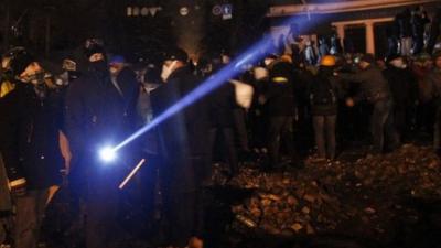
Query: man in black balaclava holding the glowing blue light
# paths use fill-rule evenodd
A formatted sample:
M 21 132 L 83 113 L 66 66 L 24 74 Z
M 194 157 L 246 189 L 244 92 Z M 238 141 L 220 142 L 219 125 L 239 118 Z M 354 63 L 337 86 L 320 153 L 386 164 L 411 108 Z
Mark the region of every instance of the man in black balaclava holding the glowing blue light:
M 85 55 L 89 71 L 71 84 L 65 100 L 65 126 L 73 150 L 69 182 L 87 196 L 87 248 L 114 247 L 121 235 L 117 228 L 118 184 L 125 176 L 125 162 L 131 158 L 126 147 L 117 160 L 106 163 L 98 151 L 131 134 L 135 105 L 130 105 L 132 93 L 111 80 L 101 41 L 88 40 Z

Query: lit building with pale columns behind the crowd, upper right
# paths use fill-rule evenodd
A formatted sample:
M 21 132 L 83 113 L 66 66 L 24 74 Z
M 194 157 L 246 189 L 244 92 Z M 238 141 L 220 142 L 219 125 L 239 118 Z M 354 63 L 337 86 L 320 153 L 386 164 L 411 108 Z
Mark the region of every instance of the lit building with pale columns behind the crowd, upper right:
M 323 34 L 335 30 L 340 39 L 355 40 L 357 52 L 384 53 L 386 29 L 391 25 L 397 13 L 405 9 L 423 7 L 429 12 L 441 8 L 440 0 L 303 0 L 270 7 L 267 14 L 272 20 L 271 35 L 277 39 L 287 35 L 290 26 L 282 20 L 290 19 L 298 23 L 300 33 L 310 35 Z

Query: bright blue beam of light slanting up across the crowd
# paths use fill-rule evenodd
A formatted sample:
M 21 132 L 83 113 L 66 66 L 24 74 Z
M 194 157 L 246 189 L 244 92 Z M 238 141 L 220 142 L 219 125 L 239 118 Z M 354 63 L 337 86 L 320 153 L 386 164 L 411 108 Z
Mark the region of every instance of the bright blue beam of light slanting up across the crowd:
M 292 23 L 292 19 L 289 19 L 287 24 Z M 304 25 L 302 26 L 304 29 Z M 219 72 L 217 72 L 215 75 L 211 76 L 208 79 L 206 79 L 204 83 L 202 83 L 198 87 L 193 89 L 191 93 L 185 95 L 181 100 L 179 100 L 176 104 L 172 105 L 169 109 L 166 109 L 163 114 L 158 116 L 152 120 L 152 122 L 148 123 L 147 126 L 142 127 L 138 131 L 136 131 L 133 134 L 128 137 L 126 140 L 123 140 L 121 143 L 116 145 L 112 149 L 112 152 L 117 152 L 128 143 L 132 142 L 143 133 L 150 131 L 152 128 L 157 127 L 174 114 L 183 110 L 187 106 L 196 103 L 197 100 L 201 100 L 204 96 L 206 96 L 208 93 L 215 90 L 216 88 L 220 87 L 223 84 L 227 83 L 229 79 L 233 77 L 237 76 L 238 74 L 243 73 L 243 67 L 249 64 L 255 64 L 262 60 L 265 55 L 273 47 L 273 41 L 270 35 L 267 35 L 263 37 L 261 41 L 257 42 L 255 45 L 252 45 L 250 48 L 248 48 L 246 52 L 244 52 L 240 56 L 236 57 L 224 66 Z

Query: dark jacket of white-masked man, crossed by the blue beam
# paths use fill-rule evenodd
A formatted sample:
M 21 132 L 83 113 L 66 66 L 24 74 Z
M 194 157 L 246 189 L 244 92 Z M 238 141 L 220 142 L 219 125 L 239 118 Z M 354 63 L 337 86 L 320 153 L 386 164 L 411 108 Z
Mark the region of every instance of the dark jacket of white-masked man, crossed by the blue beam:
M 174 71 L 168 82 L 151 91 L 153 121 L 186 94 L 197 87 L 196 78 L 189 67 Z M 209 120 L 205 99 L 192 103 L 174 112 L 157 127 L 161 157 L 166 161 L 164 172 L 174 191 L 194 191 L 197 171 L 202 171 L 194 158 L 204 157 L 207 149 Z

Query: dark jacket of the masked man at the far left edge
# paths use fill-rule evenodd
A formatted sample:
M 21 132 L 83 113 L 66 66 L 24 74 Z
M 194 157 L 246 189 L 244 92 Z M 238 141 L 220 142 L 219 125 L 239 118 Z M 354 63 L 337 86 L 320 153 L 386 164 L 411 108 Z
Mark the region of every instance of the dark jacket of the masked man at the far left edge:
M 17 83 L 3 100 L 8 110 L 2 112 L 10 119 L 2 125 L 2 154 L 10 181 L 24 177 L 30 190 L 58 184 L 63 165 L 58 143 L 63 109 L 60 94 L 49 90 L 40 99 L 32 85 Z

